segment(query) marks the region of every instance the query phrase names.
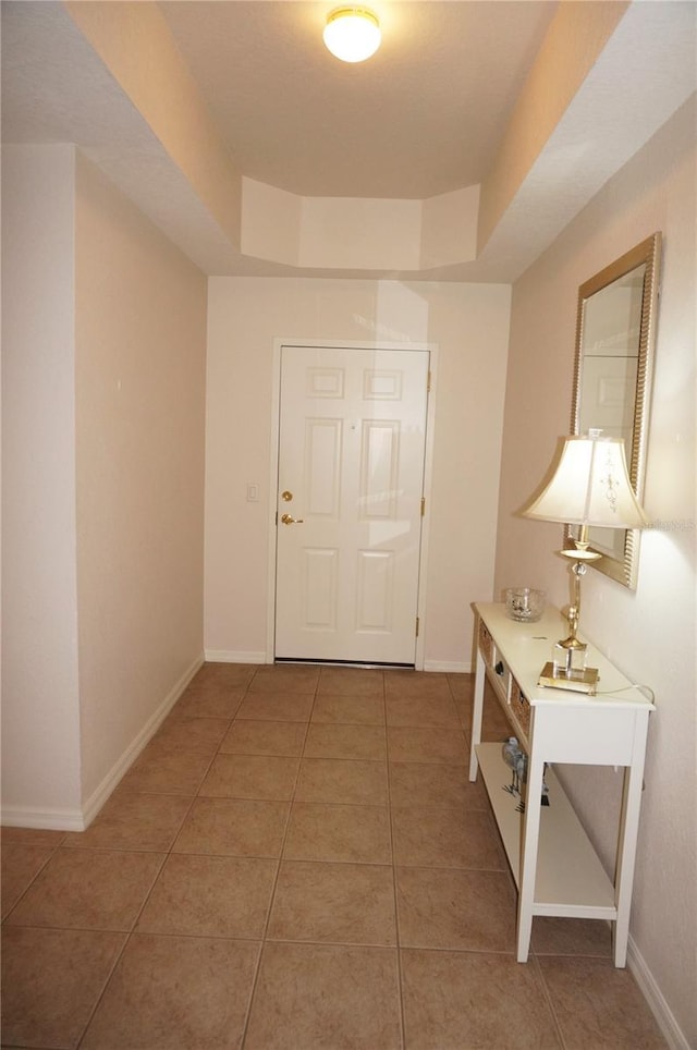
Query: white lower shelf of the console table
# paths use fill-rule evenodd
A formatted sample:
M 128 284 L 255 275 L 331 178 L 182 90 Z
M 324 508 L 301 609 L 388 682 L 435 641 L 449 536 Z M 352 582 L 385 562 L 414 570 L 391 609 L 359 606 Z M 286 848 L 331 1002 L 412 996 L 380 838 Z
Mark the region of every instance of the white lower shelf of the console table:
M 519 797 L 505 791 L 511 783 L 511 769 L 503 760 L 501 744 L 479 744 L 476 754 L 519 889 L 524 816 L 516 811 Z M 533 914 L 616 918 L 612 881 L 551 768 L 547 769 L 545 780 L 549 786 L 549 806 L 540 808 Z

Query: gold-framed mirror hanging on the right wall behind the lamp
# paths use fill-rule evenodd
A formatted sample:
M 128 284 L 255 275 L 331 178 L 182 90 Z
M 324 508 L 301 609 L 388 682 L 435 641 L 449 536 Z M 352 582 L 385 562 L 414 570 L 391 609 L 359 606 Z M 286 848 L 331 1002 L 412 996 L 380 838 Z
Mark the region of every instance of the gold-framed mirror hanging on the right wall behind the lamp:
M 629 479 L 644 493 L 653 374 L 661 234 L 655 233 L 578 289 L 571 432 L 623 438 Z M 636 588 L 638 530 L 591 528 L 594 569 Z M 565 546 L 571 546 L 565 526 Z

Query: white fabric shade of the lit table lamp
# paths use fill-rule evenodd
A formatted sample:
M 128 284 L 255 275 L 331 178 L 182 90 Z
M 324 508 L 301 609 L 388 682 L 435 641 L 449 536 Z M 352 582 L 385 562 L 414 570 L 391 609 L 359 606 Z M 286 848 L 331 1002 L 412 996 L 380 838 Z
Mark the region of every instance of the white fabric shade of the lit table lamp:
M 648 520 L 632 488 L 621 438 L 566 438 L 554 475 L 521 513 L 542 522 L 643 528 Z

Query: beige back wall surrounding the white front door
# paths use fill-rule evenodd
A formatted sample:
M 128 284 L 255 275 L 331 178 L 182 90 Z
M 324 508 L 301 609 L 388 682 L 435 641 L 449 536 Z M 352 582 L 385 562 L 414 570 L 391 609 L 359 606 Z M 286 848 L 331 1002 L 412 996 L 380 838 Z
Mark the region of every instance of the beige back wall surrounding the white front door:
M 438 346 L 425 659 L 469 668 L 469 602 L 491 597 L 509 304 L 503 285 L 210 280 L 208 654 L 267 654 L 274 340 L 413 342 Z

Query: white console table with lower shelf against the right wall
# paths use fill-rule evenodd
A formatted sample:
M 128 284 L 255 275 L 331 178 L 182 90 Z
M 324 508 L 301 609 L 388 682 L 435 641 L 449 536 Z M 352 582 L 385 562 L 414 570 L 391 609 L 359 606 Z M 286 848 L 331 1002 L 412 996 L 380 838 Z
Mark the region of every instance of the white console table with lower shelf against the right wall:
M 503 603 L 476 603 L 477 664 L 469 779 L 482 778 L 518 890 L 517 960 L 527 961 L 533 917 L 558 915 L 613 923 L 615 966 L 626 964 L 629 907 L 639 825 L 644 759 L 653 705 L 597 649 L 587 663 L 600 672 L 598 694 L 588 696 L 537 685 L 552 646 L 567 633 L 565 619 L 548 608 L 537 623 L 506 616 Z M 481 743 L 485 679 L 527 753 L 525 806 L 504 789 L 511 769 L 502 743 Z M 554 776 L 546 764 L 624 768 L 614 882 Z M 541 805 L 542 785 L 549 805 Z M 534 801 L 537 799 L 537 804 Z

